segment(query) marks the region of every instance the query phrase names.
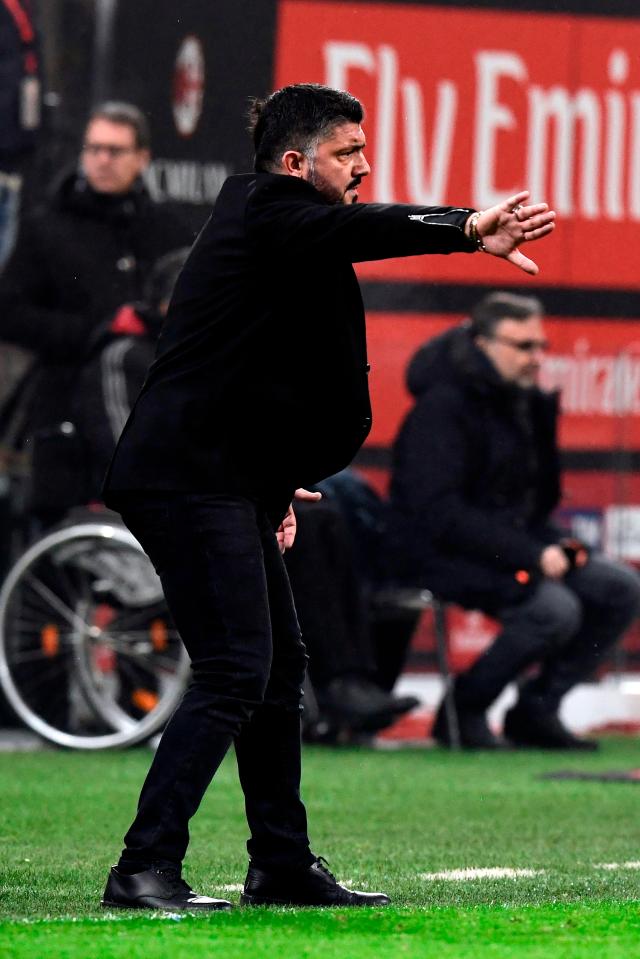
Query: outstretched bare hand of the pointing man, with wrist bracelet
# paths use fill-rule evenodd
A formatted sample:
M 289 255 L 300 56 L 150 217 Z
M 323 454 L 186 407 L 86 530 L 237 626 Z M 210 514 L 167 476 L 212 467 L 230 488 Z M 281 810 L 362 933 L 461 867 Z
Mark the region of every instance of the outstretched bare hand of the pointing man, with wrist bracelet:
M 522 243 L 540 240 L 555 228 L 555 213 L 546 203 L 525 205 L 529 191 L 523 190 L 489 210 L 472 213 L 465 233 L 479 249 L 500 256 L 533 276 L 538 265 L 520 252 Z

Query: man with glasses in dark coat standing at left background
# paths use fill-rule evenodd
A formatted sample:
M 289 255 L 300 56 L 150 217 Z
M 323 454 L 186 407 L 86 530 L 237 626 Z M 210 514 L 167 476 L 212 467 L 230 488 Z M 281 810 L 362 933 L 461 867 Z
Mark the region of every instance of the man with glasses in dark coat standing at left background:
M 23 220 L 0 279 L 0 340 L 35 359 L 22 384 L 18 442 L 33 453 L 30 505 L 42 525 L 82 500 L 79 477 L 63 469 L 73 461 L 73 437 L 60 429 L 92 335 L 142 298 L 159 257 L 193 240 L 175 213 L 151 200 L 142 181 L 148 163 L 144 114 L 129 103 L 96 107 L 77 168 Z

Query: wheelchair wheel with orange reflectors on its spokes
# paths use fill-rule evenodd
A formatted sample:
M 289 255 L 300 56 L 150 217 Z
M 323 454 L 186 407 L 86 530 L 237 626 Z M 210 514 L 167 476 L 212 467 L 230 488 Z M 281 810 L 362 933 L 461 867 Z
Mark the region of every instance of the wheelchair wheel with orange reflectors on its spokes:
M 187 653 L 140 544 L 107 520 L 36 542 L 0 591 L 0 685 L 18 716 L 75 749 L 140 742 L 177 705 Z

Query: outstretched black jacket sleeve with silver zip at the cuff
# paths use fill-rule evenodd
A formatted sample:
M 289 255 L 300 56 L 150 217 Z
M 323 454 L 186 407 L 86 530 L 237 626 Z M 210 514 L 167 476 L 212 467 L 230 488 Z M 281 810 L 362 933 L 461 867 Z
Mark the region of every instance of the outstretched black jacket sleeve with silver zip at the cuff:
M 249 201 L 247 235 L 272 256 L 321 251 L 324 258 L 352 263 L 420 253 L 473 253 L 475 245 L 464 233 L 473 212 L 409 204 L 329 205 L 318 201 L 307 184 L 284 182 L 262 187 Z

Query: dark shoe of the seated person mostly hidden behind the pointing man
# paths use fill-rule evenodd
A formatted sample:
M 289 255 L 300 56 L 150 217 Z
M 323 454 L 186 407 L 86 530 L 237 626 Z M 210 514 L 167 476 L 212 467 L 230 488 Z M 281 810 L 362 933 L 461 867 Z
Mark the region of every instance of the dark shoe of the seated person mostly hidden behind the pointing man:
M 363 677 L 338 676 L 316 691 L 329 723 L 375 732 L 419 705 L 414 696 L 392 696 Z

